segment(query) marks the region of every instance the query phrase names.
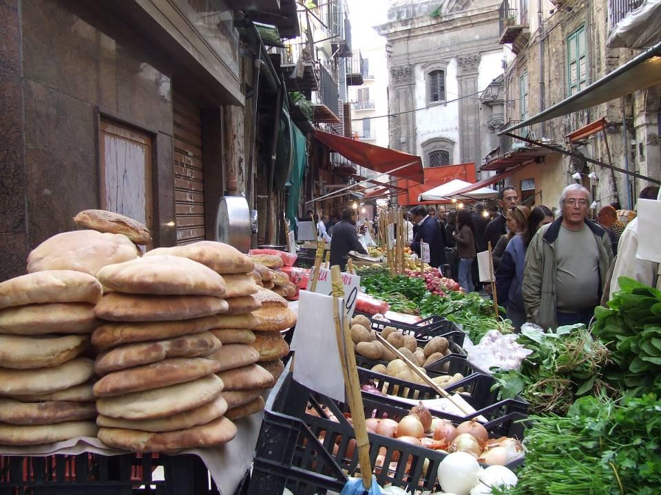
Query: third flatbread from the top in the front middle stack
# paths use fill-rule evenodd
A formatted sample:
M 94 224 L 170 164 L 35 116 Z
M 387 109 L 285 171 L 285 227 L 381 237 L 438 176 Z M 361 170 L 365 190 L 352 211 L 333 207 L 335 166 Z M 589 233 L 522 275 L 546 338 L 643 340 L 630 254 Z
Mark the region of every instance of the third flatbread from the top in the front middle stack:
M 200 333 L 212 329 L 214 325 L 216 316 L 182 321 L 107 323 L 94 330 L 92 344 L 98 349 L 107 349 L 129 342 L 164 340 Z

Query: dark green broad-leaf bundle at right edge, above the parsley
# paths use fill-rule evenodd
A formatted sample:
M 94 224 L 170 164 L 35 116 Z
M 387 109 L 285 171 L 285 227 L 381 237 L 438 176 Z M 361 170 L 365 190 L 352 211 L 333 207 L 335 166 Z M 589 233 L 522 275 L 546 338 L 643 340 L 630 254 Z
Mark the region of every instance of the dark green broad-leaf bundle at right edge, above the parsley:
M 608 308 L 594 311 L 592 333 L 607 342 L 613 366 L 609 380 L 630 395 L 661 389 L 661 292 L 629 277 L 618 278 L 620 291 Z

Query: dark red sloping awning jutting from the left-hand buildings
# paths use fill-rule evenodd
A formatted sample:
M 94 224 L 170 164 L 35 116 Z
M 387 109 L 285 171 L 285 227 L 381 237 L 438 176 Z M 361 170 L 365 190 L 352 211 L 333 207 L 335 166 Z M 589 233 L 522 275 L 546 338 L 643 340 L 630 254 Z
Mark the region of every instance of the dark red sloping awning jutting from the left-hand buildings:
M 389 173 L 389 175 L 400 179 L 410 179 L 418 184 L 424 181 L 422 159 L 419 156 L 326 133 L 318 129 L 316 136 L 328 148 L 337 151 L 337 153 L 357 165 L 378 173 Z M 395 170 L 398 167 L 402 168 Z M 395 171 L 390 173 L 390 170 Z

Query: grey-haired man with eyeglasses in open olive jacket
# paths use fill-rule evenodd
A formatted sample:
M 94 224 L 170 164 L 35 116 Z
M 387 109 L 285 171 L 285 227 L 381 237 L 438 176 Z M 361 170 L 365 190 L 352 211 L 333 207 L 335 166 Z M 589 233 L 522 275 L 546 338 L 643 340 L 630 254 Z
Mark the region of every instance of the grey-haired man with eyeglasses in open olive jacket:
M 607 232 L 587 218 L 589 205 L 589 190 L 567 186 L 561 216 L 538 230 L 525 254 L 527 320 L 543 329 L 589 325 L 599 304 L 613 252 Z

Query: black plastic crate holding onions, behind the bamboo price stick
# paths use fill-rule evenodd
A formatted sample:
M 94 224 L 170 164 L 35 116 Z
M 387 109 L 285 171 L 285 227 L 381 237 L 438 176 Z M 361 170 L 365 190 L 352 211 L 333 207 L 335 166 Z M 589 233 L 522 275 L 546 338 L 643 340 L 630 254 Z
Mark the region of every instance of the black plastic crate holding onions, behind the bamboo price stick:
M 291 374 L 282 378 L 280 390 L 269 400 L 264 412 L 248 494 L 280 494 L 284 487 L 297 495 L 340 492 L 346 474 L 357 475 L 358 452 L 353 427 L 335 401 L 297 384 L 291 380 Z M 406 412 L 395 405 L 381 404 L 373 397 L 364 401 L 365 409 L 370 412 L 379 410 L 388 415 Z M 316 415 L 306 414 L 308 404 L 312 404 Z M 322 406 L 339 421 L 328 419 Z M 518 419 L 525 419 L 525 415 Z M 489 426 L 501 428 L 495 422 Z M 437 487 L 437 471 L 445 453 L 377 434 L 370 433 L 369 439 L 370 459 L 379 485 L 392 483 L 408 491 Z M 377 466 L 377 456 L 383 456 L 379 457 L 381 467 Z M 393 459 L 399 461 L 391 466 Z

